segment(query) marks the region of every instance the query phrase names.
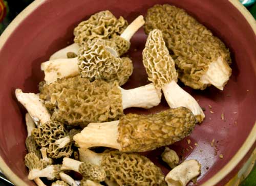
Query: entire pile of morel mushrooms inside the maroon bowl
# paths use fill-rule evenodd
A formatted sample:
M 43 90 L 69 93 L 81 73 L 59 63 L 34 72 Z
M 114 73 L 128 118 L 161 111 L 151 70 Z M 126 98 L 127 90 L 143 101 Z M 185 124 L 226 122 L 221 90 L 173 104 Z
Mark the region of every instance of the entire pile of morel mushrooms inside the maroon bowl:
M 121 88 L 133 73 L 123 55 L 144 25 L 142 52 L 151 84 Z M 180 163 L 165 148 L 162 160 L 172 169 L 163 175 L 137 152 L 168 146 L 187 137 L 205 117 L 198 102 L 177 84 L 194 89 L 213 85 L 223 90 L 230 75 L 224 43 L 184 10 L 170 5 L 148 9 L 128 25 L 108 10 L 92 15 L 74 29 L 74 43 L 41 64 L 45 81 L 39 94 L 16 89 L 24 105 L 28 137 L 28 179 L 39 186 L 182 185 L 201 172 L 196 160 Z M 156 114 L 126 114 L 131 107 L 149 109 L 161 102 L 170 109 Z M 104 151 L 96 153 L 101 147 Z M 74 172 L 82 176 L 75 180 Z M 41 179 L 42 178 L 42 179 Z

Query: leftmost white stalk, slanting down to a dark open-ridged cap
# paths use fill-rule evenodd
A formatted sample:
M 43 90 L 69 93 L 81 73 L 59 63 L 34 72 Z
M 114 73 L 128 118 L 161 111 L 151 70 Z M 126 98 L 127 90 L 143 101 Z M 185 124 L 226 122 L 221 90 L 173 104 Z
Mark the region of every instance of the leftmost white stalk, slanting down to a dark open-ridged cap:
M 36 125 L 44 124 L 50 120 L 50 114 L 44 105 L 44 101 L 37 94 L 23 93 L 22 90 L 16 89 L 15 95 L 17 100 L 27 109 Z

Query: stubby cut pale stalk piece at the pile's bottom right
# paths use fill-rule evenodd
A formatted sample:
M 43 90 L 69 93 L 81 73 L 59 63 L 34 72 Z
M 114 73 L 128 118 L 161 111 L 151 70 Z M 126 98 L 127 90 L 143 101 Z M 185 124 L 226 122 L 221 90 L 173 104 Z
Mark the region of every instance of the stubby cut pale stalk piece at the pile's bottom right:
M 201 165 L 196 160 L 187 160 L 171 170 L 165 177 L 168 186 L 186 186 L 201 173 Z

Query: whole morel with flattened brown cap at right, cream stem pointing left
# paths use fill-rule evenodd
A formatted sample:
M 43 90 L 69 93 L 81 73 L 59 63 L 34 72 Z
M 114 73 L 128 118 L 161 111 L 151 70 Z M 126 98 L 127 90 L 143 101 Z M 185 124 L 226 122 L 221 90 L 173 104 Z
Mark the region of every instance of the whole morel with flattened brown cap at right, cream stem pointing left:
M 144 152 L 182 140 L 195 124 L 195 116 L 184 107 L 151 115 L 127 114 L 118 121 L 90 123 L 74 141 L 81 148 L 103 146 Z

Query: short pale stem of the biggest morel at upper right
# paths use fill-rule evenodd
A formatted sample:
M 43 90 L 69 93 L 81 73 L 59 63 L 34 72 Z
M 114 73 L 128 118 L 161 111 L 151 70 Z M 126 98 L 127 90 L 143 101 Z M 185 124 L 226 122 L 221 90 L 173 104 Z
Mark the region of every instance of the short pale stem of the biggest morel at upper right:
M 217 89 L 223 90 L 231 73 L 232 69 L 227 62 L 225 62 L 222 57 L 219 57 L 216 61 L 209 64 L 208 70 L 202 75 L 200 82 L 213 85 Z

